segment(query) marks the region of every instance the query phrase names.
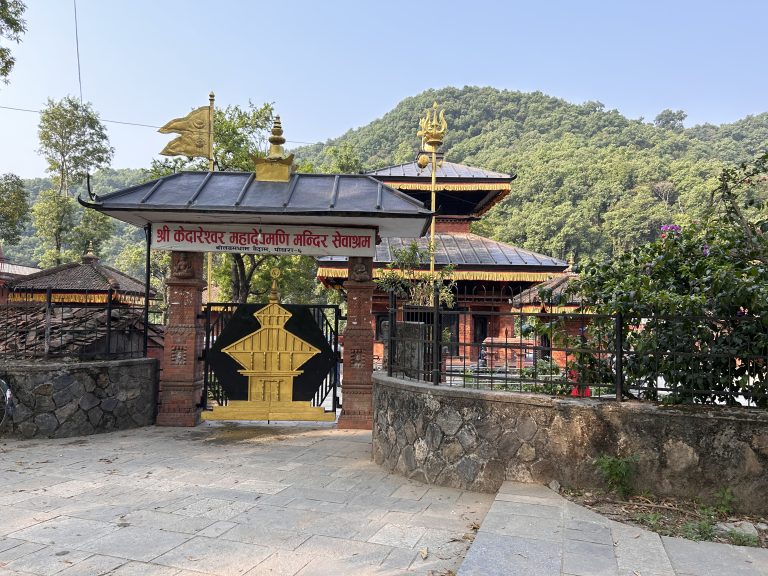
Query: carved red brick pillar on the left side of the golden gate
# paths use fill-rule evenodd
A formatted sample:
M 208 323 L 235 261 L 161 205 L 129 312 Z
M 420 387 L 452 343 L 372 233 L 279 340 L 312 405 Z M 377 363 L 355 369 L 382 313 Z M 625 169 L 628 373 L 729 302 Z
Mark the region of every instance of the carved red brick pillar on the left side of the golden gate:
M 158 426 L 197 426 L 203 390 L 203 254 L 172 252 Z

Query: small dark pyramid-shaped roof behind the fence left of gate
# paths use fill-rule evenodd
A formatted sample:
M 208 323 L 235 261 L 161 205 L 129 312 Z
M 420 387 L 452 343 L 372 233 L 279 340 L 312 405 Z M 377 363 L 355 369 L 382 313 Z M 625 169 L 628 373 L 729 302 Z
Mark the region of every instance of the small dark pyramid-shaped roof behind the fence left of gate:
M 66 290 L 71 292 L 108 292 L 119 290 L 144 295 L 144 284 L 98 260 L 87 259 L 82 263 L 62 264 L 36 274 L 24 276 L 9 283 L 14 290 Z

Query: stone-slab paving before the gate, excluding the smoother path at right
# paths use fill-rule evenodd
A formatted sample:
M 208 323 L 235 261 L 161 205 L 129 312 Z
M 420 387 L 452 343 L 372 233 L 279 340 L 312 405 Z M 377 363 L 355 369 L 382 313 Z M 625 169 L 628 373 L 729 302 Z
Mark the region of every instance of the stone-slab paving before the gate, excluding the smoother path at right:
M 370 432 L 143 428 L 0 442 L 0 575 L 447 574 L 493 496 L 371 462 Z

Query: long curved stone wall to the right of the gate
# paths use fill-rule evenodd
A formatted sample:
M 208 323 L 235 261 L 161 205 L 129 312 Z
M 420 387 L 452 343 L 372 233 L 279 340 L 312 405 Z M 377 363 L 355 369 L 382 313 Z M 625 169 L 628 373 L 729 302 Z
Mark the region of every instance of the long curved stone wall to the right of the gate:
M 374 460 L 422 482 L 493 492 L 504 480 L 603 487 L 593 461 L 637 457 L 634 484 L 768 512 L 768 413 L 550 398 L 374 375 Z

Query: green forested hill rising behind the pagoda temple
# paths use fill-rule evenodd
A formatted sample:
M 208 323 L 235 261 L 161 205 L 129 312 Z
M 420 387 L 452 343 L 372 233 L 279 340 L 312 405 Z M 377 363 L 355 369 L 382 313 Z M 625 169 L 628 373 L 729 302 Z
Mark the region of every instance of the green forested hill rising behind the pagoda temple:
M 295 152 L 315 166 L 350 156 L 364 169 L 409 162 L 418 119 L 435 101 L 448 120 L 446 159 L 518 175 L 476 231 L 561 258 L 610 255 L 696 218 L 725 163 L 768 148 L 768 113 L 686 129 L 682 111 L 631 120 L 599 102 L 465 87 L 406 98 L 367 126 Z

